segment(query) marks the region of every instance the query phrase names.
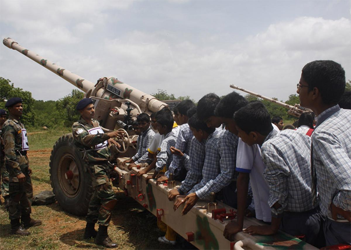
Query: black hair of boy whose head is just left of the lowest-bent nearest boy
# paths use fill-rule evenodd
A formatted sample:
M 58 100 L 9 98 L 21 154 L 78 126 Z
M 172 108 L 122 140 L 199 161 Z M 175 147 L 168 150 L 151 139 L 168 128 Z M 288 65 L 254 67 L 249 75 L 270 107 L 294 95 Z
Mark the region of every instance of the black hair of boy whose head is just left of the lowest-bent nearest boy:
M 233 119 L 233 114 L 248 103 L 245 97 L 233 91 L 219 101 L 214 110 L 214 115 Z

